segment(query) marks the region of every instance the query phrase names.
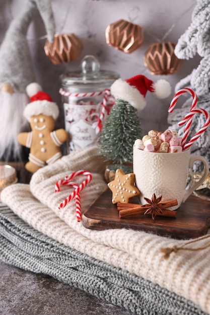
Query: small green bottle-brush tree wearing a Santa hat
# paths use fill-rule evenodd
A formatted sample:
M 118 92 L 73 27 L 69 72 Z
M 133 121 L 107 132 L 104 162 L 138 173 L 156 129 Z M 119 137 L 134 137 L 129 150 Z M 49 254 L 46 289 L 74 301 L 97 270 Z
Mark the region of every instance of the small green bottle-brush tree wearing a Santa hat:
M 142 137 L 138 111 L 146 105 L 147 91 L 164 99 L 170 95 L 171 86 L 165 80 L 154 83 L 144 75 L 136 75 L 126 81 L 119 78 L 111 86 L 116 102 L 102 129 L 99 145 L 101 155 L 115 164 L 113 171 L 120 168 L 130 172 L 125 166 L 132 163 L 134 141 Z

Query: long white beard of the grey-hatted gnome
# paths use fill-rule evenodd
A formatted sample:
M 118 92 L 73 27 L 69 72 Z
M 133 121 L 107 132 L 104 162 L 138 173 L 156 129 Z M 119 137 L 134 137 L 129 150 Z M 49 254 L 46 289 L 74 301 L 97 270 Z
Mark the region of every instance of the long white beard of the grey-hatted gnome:
M 21 160 L 21 145 L 17 136 L 23 129 L 28 129 L 28 122 L 23 110 L 28 103 L 24 93 L 0 92 L 0 160 Z

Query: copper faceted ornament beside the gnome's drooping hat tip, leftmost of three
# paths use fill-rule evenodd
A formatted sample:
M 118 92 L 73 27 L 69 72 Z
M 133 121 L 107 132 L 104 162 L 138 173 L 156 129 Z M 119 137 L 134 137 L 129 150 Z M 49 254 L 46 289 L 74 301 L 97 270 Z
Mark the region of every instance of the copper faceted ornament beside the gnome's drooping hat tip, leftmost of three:
M 82 42 L 75 34 L 55 34 L 53 43 L 47 40 L 44 45 L 45 54 L 54 64 L 78 59 L 82 48 Z

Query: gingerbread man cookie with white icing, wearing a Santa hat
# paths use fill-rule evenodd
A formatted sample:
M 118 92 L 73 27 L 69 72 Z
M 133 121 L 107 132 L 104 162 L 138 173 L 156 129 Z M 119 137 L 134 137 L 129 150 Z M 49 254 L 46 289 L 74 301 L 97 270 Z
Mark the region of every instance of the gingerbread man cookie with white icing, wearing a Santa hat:
M 51 97 L 42 92 L 36 83 L 30 84 L 26 92 L 31 103 L 25 107 L 23 114 L 30 122 L 32 131 L 19 133 L 18 141 L 30 148 L 29 162 L 25 168 L 35 173 L 43 166 L 60 159 L 60 145 L 67 140 L 68 134 L 64 129 L 53 131 L 59 109 Z

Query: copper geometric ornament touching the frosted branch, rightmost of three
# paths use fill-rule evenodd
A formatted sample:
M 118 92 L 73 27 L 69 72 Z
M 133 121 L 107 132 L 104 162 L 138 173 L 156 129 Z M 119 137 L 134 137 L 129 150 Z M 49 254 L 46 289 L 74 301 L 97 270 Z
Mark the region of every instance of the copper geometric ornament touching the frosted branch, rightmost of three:
M 152 74 L 171 74 L 180 69 L 183 60 L 174 54 L 176 43 L 162 42 L 150 45 L 144 56 L 144 64 Z

